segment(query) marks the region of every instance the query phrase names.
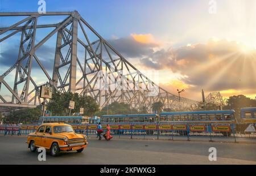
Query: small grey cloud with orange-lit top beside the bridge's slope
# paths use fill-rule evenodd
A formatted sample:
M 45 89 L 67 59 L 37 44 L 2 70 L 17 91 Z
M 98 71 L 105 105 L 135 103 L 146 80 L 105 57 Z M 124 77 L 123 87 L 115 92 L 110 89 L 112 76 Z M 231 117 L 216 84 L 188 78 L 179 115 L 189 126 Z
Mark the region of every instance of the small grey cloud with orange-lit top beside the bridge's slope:
M 127 58 L 139 58 L 154 53 L 154 48 L 160 44 L 154 41 L 151 34 L 137 35 L 131 34 L 127 37 L 112 38 L 108 40 L 115 50 Z

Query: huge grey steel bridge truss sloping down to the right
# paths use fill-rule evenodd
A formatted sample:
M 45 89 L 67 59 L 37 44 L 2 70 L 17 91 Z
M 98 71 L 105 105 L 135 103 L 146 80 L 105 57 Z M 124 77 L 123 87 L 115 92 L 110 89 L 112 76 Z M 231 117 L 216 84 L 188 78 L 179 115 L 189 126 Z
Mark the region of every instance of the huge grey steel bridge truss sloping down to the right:
M 57 24 L 37 24 L 38 18 L 45 15 L 67 15 L 67 18 Z M 18 58 L 0 76 L 0 106 L 35 107 L 40 104 L 39 91 L 42 84 L 37 83 L 31 76 L 34 60 L 43 71 L 42 76 L 46 76 L 48 85 L 60 92 L 90 95 L 101 108 L 118 101 L 130 104 L 136 109 L 143 106 L 151 109 L 154 102 L 162 101 L 164 108 L 179 109 L 179 97 L 160 88 L 137 70 L 86 23 L 77 11 L 46 14 L 2 12 L 0 16 L 26 16 L 10 27 L 0 28 L 0 46 L 2 41 L 21 33 Z M 54 29 L 35 45 L 36 31 L 39 28 Z M 57 37 L 50 76 L 35 51 L 53 35 Z M 82 58 L 78 56 L 77 45 L 82 46 Z M 13 71 L 14 83 L 10 85 L 5 77 Z M 1 91 L 3 85 L 11 93 L 9 101 Z M 23 85 L 22 88 L 18 89 L 19 85 Z M 180 103 L 183 109 L 189 109 L 196 102 L 181 97 Z

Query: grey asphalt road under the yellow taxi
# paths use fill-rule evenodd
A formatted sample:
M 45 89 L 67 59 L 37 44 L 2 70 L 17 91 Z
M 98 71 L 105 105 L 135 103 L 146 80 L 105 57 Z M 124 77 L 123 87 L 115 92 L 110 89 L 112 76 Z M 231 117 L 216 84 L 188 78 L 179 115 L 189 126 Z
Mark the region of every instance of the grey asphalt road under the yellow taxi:
M 88 139 L 82 153 L 49 153 L 38 161 L 24 143 L 26 136 L 0 135 L 0 164 L 256 164 L 255 143 L 219 143 L 202 141 Z M 208 160 L 208 149 L 217 149 L 217 161 Z

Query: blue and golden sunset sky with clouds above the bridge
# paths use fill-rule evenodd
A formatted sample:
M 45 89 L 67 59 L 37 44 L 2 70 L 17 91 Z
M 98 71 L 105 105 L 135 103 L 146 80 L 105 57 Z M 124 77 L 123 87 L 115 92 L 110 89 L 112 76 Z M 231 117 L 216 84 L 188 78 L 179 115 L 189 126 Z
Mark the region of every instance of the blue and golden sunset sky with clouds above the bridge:
M 213 14 L 209 2 L 46 0 L 46 10 L 79 11 L 138 70 L 157 71 L 159 78 L 153 81 L 171 93 L 185 89 L 182 96 L 201 100 L 204 89 L 207 95 L 220 91 L 224 97 L 243 94 L 255 98 L 256 1 L 216 0 Z M 0 0 L 1 12 L 37 10 L 36 0 Z M 0 18 L 0 27 L 15 20 Z M 51 20 L 59 19 L 42 23 Z M 44 37 L 40 31 L 37 35 Z M 0 45 L 0 74 L 10 66 L 9 58 L 17 57 L 13 54 L 17 45 Z M 49 51 L 47 57 L 54 58 L 55 44 L 44 47 Z

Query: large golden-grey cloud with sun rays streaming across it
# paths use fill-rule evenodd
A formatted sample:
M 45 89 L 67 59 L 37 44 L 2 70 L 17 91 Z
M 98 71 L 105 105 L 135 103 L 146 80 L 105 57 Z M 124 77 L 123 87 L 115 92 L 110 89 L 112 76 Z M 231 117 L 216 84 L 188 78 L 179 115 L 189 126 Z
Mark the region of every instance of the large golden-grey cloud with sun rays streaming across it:
M 191 91 L 253 89 L 256 93 L 256 50 L 237 42 L 209 40 L 207 44 L 162 49 L 142 58 L 141 64 L 184 75 L 179 81 L 190 85 Z

